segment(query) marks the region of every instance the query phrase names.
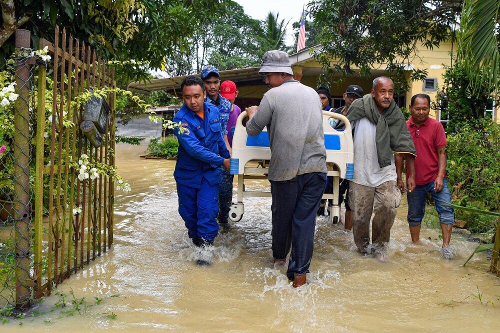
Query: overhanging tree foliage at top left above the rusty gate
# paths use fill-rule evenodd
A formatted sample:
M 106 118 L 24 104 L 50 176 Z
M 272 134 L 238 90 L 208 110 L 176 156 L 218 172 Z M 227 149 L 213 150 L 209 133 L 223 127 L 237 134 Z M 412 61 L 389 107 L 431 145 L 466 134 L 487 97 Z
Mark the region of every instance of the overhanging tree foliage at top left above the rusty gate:
M 108 59 L 149 61 L 160 68 L 176 49 L 187 49 L 200 21 L 224 12 L 225 0 L 0 0 L 0 61 L 13 51 L 13 31 L 53 41 L 55 25 Z M 123 77 L 123 83 L 129 77 Z M 128 83 L 128 82 L 126 82 Z

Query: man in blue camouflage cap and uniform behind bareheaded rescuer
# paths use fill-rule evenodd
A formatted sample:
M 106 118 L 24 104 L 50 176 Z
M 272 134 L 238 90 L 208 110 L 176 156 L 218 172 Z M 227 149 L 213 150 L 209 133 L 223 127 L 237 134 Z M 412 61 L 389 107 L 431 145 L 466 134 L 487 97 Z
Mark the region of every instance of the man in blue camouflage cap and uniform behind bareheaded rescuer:
M 227 121 L 229 120 L 229 112 L 231 112 L 231 102 L 223 97 L 220 92 L 220 74 L 214 66 L 207 66 L 201 70 L 201 79 L 205 84 L 206 97 L 205 102 L 215 105 L 219 112 L 220 124 L 222 125 L 222 132 L 224 141 L 229 153 L 231 147 L 227 139 Z M 221 168 L 220 183 L 219 183 L 219 211 L 217 220 L 223 228 L 227 229 L 229 223 L 229 207 L 232 200 L 232 177 L 224 168 Z

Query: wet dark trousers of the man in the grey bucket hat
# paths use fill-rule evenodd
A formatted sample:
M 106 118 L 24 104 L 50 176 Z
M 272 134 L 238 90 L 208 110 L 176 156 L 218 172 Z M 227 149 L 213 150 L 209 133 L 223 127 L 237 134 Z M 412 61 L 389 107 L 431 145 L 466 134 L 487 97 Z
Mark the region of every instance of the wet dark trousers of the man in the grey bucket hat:
M 309 272 L 314 245 L 316 210 L 326 181 L 326 173 L 312 172 L 290 180 L 273 181 L 272 195 L 272 256 L 284 259 L 290 247 L 286 276 Z

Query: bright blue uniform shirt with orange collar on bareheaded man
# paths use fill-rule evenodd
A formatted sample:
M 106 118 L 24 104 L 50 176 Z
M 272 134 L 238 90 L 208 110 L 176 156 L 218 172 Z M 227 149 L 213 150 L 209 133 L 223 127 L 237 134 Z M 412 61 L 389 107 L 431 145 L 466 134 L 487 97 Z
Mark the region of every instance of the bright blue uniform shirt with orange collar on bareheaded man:
M 173 117 L 184 127 L 183 133 L 178 128 L 173 131 L 179 140 L 173 176 L 178 183 L 194 188 L 200 188 L 203 177 L 212 186 L 218 184 L 220 165 L 229 158 L 217 108 L 204 102 L 203 110 L 201 119 L 184 104 Z

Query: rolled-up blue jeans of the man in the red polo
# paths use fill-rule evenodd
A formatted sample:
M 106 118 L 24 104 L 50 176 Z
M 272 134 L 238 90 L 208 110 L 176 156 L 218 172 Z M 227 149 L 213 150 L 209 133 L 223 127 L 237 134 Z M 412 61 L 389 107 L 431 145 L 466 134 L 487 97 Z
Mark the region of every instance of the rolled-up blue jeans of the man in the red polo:
M 422 222 L 425 213 L 425 200 L 427 193 L 430 193 L 434 199 L 435 208 L 439 216 L 439 222 L 443 224 L 454 224 L 455 215 L 453 208 L 446 205 L 451 203 L 451 195 L 449 194 L 448 182 L 443 178 L 443 186 L 439 192 L 434 191 L 434 181 L 425 185 L 416 185 L 412 192 L 407 192 L 408 199 L 408 223 L 411 226 L 418 225 Z

